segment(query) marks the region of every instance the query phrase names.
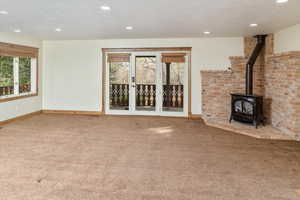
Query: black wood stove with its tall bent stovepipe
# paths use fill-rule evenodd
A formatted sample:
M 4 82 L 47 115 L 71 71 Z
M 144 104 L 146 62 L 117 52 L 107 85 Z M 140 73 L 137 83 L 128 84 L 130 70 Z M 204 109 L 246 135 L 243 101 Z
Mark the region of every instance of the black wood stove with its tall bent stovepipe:
M 253 95 L 253 66 L 265 46 L 267 35 L 257 35 L 256 47 L 246 66 L 246 94 L 231 94 L 232 120 L 253 124 L 256 128 L 264 124 L 263 97 Z

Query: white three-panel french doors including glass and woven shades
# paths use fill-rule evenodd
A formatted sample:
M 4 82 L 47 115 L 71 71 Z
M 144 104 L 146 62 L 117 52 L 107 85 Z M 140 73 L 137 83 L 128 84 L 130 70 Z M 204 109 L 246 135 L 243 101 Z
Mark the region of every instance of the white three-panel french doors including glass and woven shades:
M 106 114 L 188 116 L 185 53 L 107 53 Z

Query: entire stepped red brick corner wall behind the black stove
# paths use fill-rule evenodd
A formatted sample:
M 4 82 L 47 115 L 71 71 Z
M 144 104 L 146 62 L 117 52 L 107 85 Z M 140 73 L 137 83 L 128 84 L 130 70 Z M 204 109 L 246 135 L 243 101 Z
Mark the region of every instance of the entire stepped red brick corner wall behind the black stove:
M 256 40 L 244 39 L 245 57 L 230 57 L 229 70 L 203 70 L 202 112 L 228 120 L 230 93 L 245 93 L 245 66 Z M 300 137 L 300 52 L 273 55 L 273 35 L 254 66 L 254 94 L 265 96 L 265 115 L 273 126 Z

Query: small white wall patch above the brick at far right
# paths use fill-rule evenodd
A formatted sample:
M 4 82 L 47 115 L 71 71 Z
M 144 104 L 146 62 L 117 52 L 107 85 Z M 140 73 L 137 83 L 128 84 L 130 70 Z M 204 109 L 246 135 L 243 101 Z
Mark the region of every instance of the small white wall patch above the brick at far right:
M 300 24 L 283 29 L 274 34 L 274 51 L 300 51 Z

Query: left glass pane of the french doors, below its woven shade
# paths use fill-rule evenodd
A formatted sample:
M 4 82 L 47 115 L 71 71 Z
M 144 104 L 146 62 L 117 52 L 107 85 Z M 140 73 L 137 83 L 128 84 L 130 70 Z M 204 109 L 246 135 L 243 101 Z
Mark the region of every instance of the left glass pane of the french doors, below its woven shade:
M 109 64 L 109 100 L 111 110 L 129 110 L 129 62 Z

